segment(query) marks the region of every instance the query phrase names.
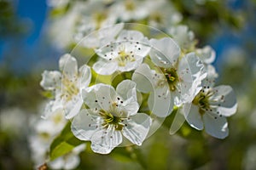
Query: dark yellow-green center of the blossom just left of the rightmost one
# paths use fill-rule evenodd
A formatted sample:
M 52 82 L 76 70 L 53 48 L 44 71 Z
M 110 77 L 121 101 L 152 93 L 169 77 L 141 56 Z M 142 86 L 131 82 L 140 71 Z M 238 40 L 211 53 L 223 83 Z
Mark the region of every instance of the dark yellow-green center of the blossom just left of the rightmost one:
M 163 71 L 166 77 L 170 90 L 171 91 L 176 90 L 176 84 L 178 82 L 177 71 L 174 68 L 171 68 L 171 69 L 161 68 L 161 71 Z

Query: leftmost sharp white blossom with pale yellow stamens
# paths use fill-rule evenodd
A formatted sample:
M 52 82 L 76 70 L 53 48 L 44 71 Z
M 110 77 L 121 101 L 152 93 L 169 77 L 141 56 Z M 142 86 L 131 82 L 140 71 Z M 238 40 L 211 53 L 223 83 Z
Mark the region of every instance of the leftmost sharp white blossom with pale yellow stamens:
M 48 117 L 58 109 L 64 109 L 67 119 L 75 116 L 83 104 L 81 90 L 90 83 L 90 67 L 79 68 L 75 58 L 70 54 L 61 56 L 60 71 L 44 71 L 40 85 L 45 90 L 53 91 L 55 99 L 45 107 L 44 117 Z

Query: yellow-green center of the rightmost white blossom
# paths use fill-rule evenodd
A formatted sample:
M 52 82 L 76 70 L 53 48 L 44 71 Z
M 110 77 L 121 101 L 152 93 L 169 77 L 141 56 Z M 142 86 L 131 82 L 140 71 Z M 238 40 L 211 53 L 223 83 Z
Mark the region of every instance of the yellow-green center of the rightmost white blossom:
M 207 110 L 210 110 L 209 98 L 212 96 L 211 92 L 205 93 L 201 91 L 195 96 L 195 99 L 192 101 L 194 105 L 199 106 L 199 113 L 201 115 L 205 114 Z

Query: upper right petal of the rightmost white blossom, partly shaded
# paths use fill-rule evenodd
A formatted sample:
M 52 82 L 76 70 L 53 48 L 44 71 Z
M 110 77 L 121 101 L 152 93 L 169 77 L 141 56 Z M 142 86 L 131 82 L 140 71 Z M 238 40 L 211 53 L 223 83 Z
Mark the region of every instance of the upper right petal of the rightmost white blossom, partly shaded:
M 224 100 L 219 102 L 217 111 L 223 116 L 231 116 L 236 113 L 237 102 L 236 94 L 230 86 L 218 86 L 213 88 L 214 91 L 217 91 L 211 98 L 212 99 L 221 99 L 223 96 Z

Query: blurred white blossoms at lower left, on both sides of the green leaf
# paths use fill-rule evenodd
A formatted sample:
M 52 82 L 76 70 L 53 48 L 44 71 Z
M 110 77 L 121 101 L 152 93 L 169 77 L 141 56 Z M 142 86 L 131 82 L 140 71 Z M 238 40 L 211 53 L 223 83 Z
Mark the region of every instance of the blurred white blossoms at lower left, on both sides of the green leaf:
M 31 119 L 30 124 L 33 131 L 29 137 L 29 143 L 35 167 L 39 167 L 49 160 L 49 146 L 55 137 L 61 133 L 66 123 L 67 119 L 61 109 L 52 112 L 47 120 L 38 119 L 38 117 Z M 80 144 L 67 154 L 58 157 L 54 161 L 49 161 L 48 166 L 52 169 L 73 169 L 79 165 L 80 158 L 78 155 L 84 148 L 85 144 Z

